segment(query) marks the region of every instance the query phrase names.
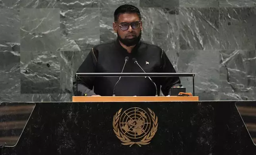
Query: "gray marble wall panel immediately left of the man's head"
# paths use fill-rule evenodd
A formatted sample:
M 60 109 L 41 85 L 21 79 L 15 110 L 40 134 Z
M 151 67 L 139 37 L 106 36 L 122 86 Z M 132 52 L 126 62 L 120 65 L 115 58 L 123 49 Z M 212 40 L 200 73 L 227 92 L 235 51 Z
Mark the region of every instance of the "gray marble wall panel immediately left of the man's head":
M 115 8 L 101 8 L 100 11 L 100 43 L 116 39 L 117 34 L 113 30 Z

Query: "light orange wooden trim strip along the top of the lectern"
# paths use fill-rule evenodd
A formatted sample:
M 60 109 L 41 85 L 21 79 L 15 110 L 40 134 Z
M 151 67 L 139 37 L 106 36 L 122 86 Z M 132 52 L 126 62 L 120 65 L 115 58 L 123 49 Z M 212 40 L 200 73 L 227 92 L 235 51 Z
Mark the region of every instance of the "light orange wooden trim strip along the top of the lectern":
M 198 96 L 72 96 L 72 102 L 170 102 L 199 101 Z

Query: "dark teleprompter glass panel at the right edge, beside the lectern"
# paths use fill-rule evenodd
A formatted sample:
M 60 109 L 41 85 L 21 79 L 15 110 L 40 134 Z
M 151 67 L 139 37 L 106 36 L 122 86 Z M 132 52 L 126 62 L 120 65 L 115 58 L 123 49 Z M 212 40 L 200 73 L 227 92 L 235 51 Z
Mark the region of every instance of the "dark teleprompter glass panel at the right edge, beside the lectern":
M 252 142 L 256 145 L 256 101 L 238 101 L 235 105 Z

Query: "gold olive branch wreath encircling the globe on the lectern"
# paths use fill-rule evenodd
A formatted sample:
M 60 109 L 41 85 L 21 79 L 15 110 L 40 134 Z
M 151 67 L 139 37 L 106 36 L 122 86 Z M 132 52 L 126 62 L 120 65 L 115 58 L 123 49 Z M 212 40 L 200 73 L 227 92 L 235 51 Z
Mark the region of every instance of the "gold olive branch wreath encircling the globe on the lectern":
M 120 119 L 122 108 L 118 112 L 116 112 L 113 118 L 113 128 L 114 128 L 114 133 L 116 134 L 116 137 L 123 142 L 122 145 L 130 145 L 131 147 L 133 144 L 137 144 L 138 146 L 141 147 L 142 145 L 149 144 L 150 143 L 149 141 L 155 136 L 155 133 L 157 132 L 157 127 L 158 127 L 158 119 L 155 113 L 151 109 L 149 108 L 147 109 L 150 112 L 150 116 L 153 121 L 153 127 L 151 128 L 151 131 L 146 136 L 144 136 L 144 138 L 139 142 L 132 142 L 127 136 L 125 136 L 120 132 L 118 128 L 118 121 Z

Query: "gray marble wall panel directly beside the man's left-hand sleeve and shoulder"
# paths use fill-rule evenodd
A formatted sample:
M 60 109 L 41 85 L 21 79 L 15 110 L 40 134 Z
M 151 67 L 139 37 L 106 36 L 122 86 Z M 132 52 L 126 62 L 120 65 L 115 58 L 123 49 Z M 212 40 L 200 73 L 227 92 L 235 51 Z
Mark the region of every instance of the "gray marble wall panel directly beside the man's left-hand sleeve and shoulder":
M 76 71 L 87 57 L 91 48 L 84 51 L 61 51 L 60 52 L 60 88 L 62 93 L 72 93 L 73 80 Z

